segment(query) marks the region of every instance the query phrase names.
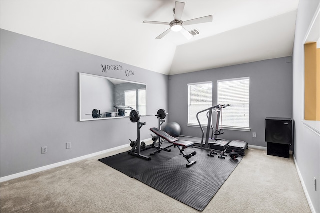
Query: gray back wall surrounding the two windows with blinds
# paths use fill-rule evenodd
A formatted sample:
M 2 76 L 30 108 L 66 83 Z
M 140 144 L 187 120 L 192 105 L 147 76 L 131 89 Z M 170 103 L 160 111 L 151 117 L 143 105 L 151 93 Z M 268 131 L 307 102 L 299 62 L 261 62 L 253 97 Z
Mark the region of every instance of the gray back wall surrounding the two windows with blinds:
M 187 84 L 212 81 L 213 105 L 216 105 L 218 104 L 217 80 L 239 77 L 250 77 L 251 131 L 224 130 L 224 134 L 219 138 L 244 140 L 251 145 L 266 147 L 265 117 L 292 117 L 291 57 L 169 76 L 170 121 L 180 124 L 182 135 L 201 137 L 200 128 L 186 125 L 188 114 Z M 252 137 L 252 132 L 256 132 L 256 138 Z

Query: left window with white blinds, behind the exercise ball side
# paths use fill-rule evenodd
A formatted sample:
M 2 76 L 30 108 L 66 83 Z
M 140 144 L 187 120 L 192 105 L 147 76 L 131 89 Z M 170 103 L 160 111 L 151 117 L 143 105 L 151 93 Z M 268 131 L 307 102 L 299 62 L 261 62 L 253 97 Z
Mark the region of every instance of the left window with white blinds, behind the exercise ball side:
M 196 114 L 212 106 L 212 82 L 188 84 L 188 124 L 198 125 Z M 207 124 L 206 113 L 199 114 L 201 124 Z

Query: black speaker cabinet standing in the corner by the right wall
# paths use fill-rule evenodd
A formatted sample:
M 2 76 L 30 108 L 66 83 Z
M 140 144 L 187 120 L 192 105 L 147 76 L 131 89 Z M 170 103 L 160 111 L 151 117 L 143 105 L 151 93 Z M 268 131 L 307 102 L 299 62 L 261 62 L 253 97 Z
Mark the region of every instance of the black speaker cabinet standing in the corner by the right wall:
M 292 144 L 292 119 L 291 118 L 265 118 L 265 141 L 267 154 L 289 158 L 290 145 Z

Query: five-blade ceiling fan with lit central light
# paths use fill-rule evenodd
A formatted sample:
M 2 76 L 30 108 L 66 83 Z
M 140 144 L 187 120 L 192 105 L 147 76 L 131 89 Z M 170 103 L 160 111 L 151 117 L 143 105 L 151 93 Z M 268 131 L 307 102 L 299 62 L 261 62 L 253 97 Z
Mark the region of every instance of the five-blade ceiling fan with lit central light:
M 174 20 L 169 22 L 160 22 L 160 21 L 143 21 L 143 23 L 152 23 L 152 24 L 164 24 L 169 25 L 170 28 L 164 31 L 162 34 L 156 37 L 156 39 L 163 38 L 166 34 L 168 34 L 171 30 L 174 32 L 180 31 L 187 39 L 191 39 L 193 35 L 186 30 L 183 26 L 184 25 L 191 25 L 191 24 L 197 24 L 197 23 L 206 23 L 212 21 L 212 15 L 195 18 L 187 21 L 182 21 L 182 13 L 184 9 L 184 2 L 175 1 L 175 8 L 173 9 L 174 13 Z

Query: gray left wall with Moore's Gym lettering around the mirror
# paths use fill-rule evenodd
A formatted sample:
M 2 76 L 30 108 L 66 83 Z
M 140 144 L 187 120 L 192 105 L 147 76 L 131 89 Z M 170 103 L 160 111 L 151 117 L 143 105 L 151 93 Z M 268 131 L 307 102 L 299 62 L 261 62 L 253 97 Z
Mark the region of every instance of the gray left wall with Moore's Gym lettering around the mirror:
M 102 72 L 101 64 L 123 70 Z M 126 69 L 134 75 L 127 77 Z M 147 113 L 168 111 L 167 75 L 1 29 L 1 177 L 136 139 L 129 118 L 79 122 L 79 72 L 146 83 Z M 150 138 L 157 119 L 141 121 L 141 138 Z M 42 146 L 47 154 L 41 154 Z

